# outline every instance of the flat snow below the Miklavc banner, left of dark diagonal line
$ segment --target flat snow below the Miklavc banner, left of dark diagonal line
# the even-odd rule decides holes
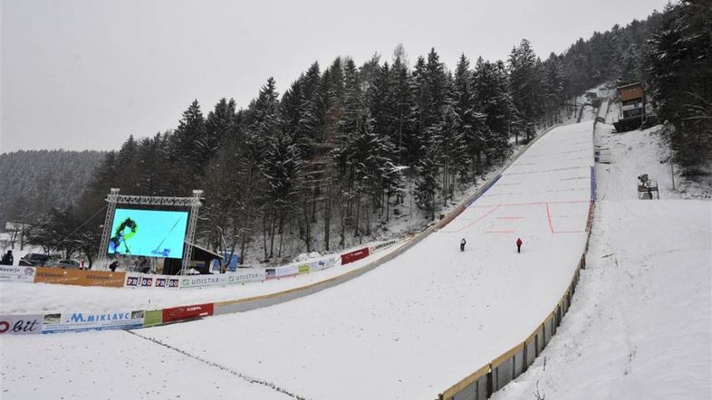
[[[0,338],[0,399],[291,398],[267,382],[251,382],[125,331],[101,333]],[[18,347],[32,348],[29,357],[15,353]]]

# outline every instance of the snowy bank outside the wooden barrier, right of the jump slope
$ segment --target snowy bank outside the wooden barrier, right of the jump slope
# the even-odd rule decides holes
[[[672,190],[656,130],[598,126],[612,163],[596,167],[587,268],[557,335],[494,398],[712,398],[712,203],[680,176]],[[637,199],[643,173],[659,201]]]

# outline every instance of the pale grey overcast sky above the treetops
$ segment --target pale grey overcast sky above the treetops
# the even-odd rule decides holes
[[[667,0],[0,0],[0,153],[115,149],[175,128],[197,99],[240,108],[274,76],[280,92],[314,61],[412,62],[435,47],[505,59],[522,38],[543,58]]]

